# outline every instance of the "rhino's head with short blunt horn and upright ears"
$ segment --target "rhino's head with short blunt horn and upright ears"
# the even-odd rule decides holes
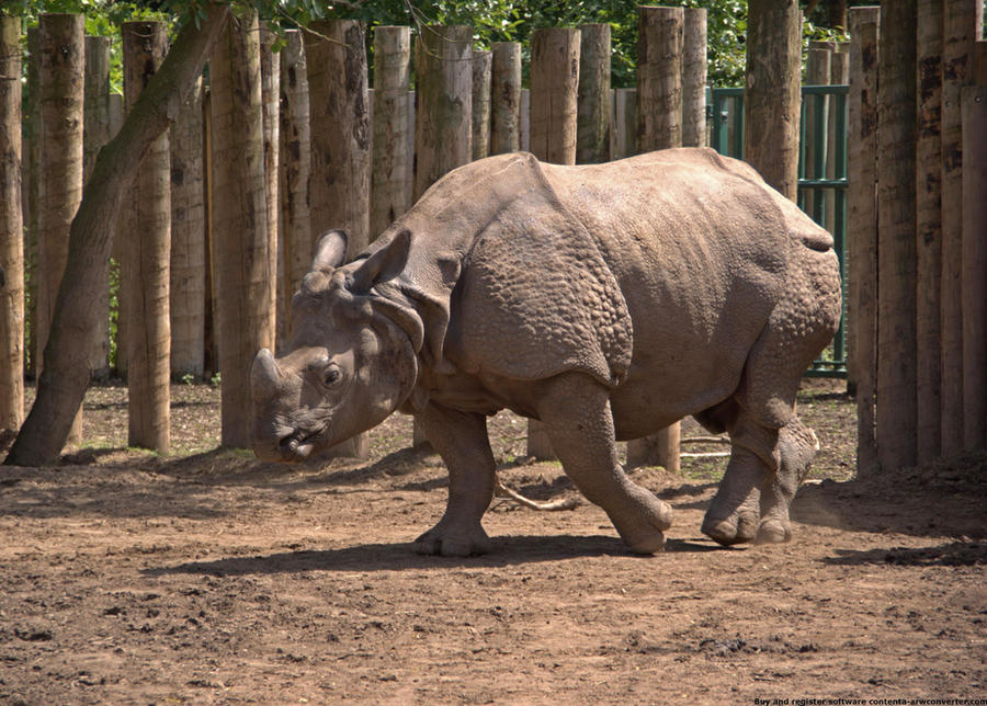
[[[291,337],[282,356],[266,349],[251,369],[253,448],[263,460],[297,462],[371,429],[410,394],[415,348],[371,288],[407,261],[410,234],[341,266],[345,234],[319,240],[311,271],[292,300]]]

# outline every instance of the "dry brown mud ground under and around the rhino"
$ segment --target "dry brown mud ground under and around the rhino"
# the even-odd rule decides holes
[[[416,556],[446,478],[407,418],[368,462],[279,467],[215,449],[208,386],[174,388],[174,454],[126,449],[125,398],[90,394],[57,467],[0,467],[0,703],[987,699],[987,456],[851,480],[836,383],[801,396],[824,448],[791,544],[705,539],[725,462],[690,460],[635,471],[677,511],[651,558],[592,505],[510,502],[494,554]],[[491,423],[501,478],[574,494],[523,429]]]

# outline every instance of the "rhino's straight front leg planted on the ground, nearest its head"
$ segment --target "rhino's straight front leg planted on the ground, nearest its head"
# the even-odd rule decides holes
[[[415,540],[415,550],[446,557],[490,551],[480,519],[494,499],[497,467],[486,418],[431,403],[416,420],[449,468],[449,503],[439,524]]]

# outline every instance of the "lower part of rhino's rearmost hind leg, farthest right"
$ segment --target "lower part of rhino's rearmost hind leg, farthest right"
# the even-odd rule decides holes
[[[761,493],[761,523],[758,544],[778,544],[792,538],[789,506],[808,475],[819,440],[797,417],[785,424],[778,439],[781,466],[774,481]]]

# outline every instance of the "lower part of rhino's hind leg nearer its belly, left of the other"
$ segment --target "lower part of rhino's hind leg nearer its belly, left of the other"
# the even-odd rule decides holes
[[[761,491],[776,475],[776,429],[751,420],[742,411],[728,426],[730,462],[703,520],[703,534],[724,546],[751,542],[761,522]]]

